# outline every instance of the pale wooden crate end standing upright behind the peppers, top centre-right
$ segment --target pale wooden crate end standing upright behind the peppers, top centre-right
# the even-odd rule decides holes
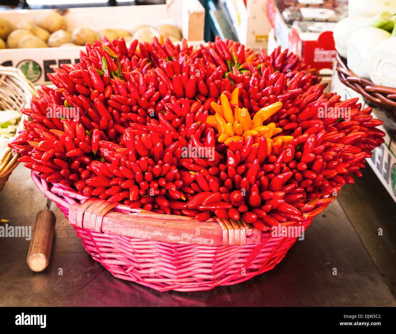
[[[227,11],[229,23],[239,42],[255,52],[259,52],[260,48],[267,49],[271,28],[266,15],[267,0],[221,0],[220,5]]]

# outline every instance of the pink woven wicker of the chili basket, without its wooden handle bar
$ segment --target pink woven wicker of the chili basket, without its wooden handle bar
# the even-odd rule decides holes
[[[36,172],[32,179],[68,218],[69,208],[87,199],[71,188],[48,184]],[[311,201],[302,226],[307,228],[334,199]],[[113,210],[127,215],[140,209],[119,204]],[[200,222],[196,223],[199,226]],[[269,231],[257,244],[197,245],[130,238],[76,225],[74,229],[86,251],[113,276],[159,291],[200,291],[243,282],[273,269],[297,240],[297,236],[272,236]]]

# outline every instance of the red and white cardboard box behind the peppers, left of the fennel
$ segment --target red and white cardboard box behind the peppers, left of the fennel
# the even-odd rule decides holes
[[[288,48],[316,69],[331,69],[336,53],[333,32],[307,33],[298,24],[289,26],[276,4],[276,0],[267,1],[267,16],[282,49]]]

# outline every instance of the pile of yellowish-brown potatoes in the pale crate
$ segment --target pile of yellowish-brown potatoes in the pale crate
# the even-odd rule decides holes
[[[103,29],[93,31],[89,28],[78,27],[67,31],[65,18],[57,12],[47,12],[37,15],[34,22],[19,21],[15,27],[6,19],[0,18],[0,49],[15,48],[54,48],[59,46],[84,46],[101,40],[101,36],[109,40],[124,37],[126,42],[138,39],[140,42],[152,42],[162,35],[172,42],[182,38],[179,28],[173,25],[160,25],[157,29],[147,25],[135,27],[132,32],[124,29]]]

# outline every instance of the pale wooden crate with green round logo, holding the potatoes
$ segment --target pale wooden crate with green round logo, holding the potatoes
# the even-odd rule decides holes
[[[34,21],[38,13],[53,10],[13,10],[0,12],[0,17],[13,25],[22,19]],[[89,27],[94,31],[120,28],[132,31],[138,25],[157,27],[172,24],[183,36],[199,44],[204,39],[205,9],[198,0],[167,0],[163,5],[70,8],[65,12],[67,30]],[[79,61],[85,47],[32,48],[0,50],[0,65],[20,68],[34,84],[48,83],[47,73],[62,63]]]

